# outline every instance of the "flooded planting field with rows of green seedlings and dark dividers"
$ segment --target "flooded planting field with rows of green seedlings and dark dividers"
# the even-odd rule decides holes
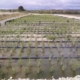
[[[0,26],[0,78],[80,74],[80,21],[29,15]]]

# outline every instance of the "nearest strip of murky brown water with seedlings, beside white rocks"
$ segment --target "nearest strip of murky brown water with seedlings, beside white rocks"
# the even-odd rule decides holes
[[[1,61],[1,69],[7,74],[7,77],[14,78],[51,78],[54,76],[67,77],[80,74],[80,65],[77,59],[27,59]],[[76,63],[77,62],[77,63]]]

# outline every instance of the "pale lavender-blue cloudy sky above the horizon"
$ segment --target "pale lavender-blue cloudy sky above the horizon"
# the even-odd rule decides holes
[[[80,9],[80,0],[1,0],[0,9]]]

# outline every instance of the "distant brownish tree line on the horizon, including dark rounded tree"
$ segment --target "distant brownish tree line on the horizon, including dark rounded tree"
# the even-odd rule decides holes
[[[80,10],[26,10],[23,6],[19,6],[18,9],[1,9],[0,11],[9,11],[9,12],[16,12],[16,11],[27,11],[29,13],[40,13],[40,14],[80,14]]]

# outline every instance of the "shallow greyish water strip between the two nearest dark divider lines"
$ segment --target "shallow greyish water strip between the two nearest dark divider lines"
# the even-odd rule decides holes
[[[39,48],[1,48],[0,49],[0,56],[4,57],[18,57],[21,55],[22,57],[57,57],[57,56],[64,56],[64,57],[77,57],[80,53],[79,48],[75,47],[39,47]]]

